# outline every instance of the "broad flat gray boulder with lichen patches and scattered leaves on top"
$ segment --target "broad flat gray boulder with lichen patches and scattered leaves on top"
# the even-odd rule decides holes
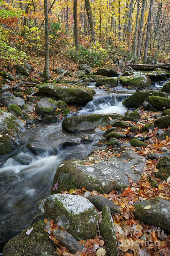
[[[90,159],[92,157],[91,160],[87,158],[87,160],[64,161],[56,170],[53,187],[58,181],[57,192],[82,187],[89,191],[96,190],[102,194],[108,193],[112,189],[120,191],[130,184],[126,172],[129,173],[133,182],[137,182],[143,173],[145,161],[138,154],[134,154],[132,149],[121,153],[120,157],[114,156],[114,153],[119,155],[123,148],[114,148],[114,150],[93,151],[88,156]],[[103,159],[100,158],[101,156]],[[130,168],[135,165],[136,167]],[[54,193],[55,191],[52,190],[52,194]]]

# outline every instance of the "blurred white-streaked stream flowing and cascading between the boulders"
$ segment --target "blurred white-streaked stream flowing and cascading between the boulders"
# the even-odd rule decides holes
[[[163,83],[154,83],[147,90],[159,91]],[[118,113],[124,115],[127,108],[122,101],[134,90],[127,90],[120,84],[115,91],[103,91],[91,83],[96,94],[76,115]],[[28,227],[34,216],[40,214],[38,202],[50,195],[53,177],[57,167],[67,159],[82,159],[91,151],[98,149],[96,145],[104,136],[95,131],[68,133],[61,128],[62,121],[54,124],[35,124],[20,135],[21,147],[10,156],[0,159],[0,221],[1,228]],[[67,140],[80,140],[82,135],[90,135],[92,143],[62,148]],[[26,148],[38,148],[36,154]]]

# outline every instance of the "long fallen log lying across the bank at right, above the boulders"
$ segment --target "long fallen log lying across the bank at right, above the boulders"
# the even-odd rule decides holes
[[[155,68],[170,69],[170,63],[158,63],[158,64],[129,64],[129,67],[134,70],[146,70],[153,71]]]

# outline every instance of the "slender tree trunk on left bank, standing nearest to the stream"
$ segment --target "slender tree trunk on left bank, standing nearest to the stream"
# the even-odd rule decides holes
[[[45,19],[45,65],[43,77],[48,81],[49,76],[49,38],[48,38],[48,0],[44,0],[44,19]]]

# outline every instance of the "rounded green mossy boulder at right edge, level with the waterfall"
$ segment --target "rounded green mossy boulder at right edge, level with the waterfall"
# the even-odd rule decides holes
[[[149,96],[148,101],[158,110],[168,109],[170,107],[170,98],[164,98],[159,96]]]

